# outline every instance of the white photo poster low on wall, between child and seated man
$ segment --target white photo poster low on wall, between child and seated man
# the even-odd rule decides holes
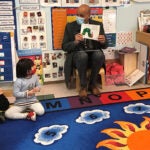
[[[44,82],[64,80],[64,61],[63,51],[42,52]]]

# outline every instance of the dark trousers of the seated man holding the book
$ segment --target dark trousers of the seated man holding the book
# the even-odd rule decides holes
[[[91,76],[89,80],[90,86],[96,86],[97,77],[100,68],[105,63],[105,56],[101,50],[85,52],[78,51],[73,56],[73,65],[78,70],[79,78],[80,78],[80,86],[82,88],[86,88],[88,85],[86,72],[87,69],[91,69]]]

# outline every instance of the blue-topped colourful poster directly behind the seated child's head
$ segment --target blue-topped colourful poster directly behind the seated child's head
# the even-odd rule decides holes
[[[42,51],[41,49],[26,49],[26,50],[17,50],[19,59],[21,58],[30,58],[35,65],[36,74],[39,77],[39,82],[43,84],[43,65],[42,65]]]

